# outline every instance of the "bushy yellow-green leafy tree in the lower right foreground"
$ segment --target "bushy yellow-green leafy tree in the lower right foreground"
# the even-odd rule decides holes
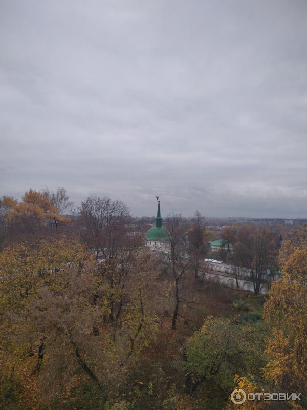
[[[210,392],[207,400],[211,405],[214,400],[226,400],[236,374],[261,374],[264,341],[261,323],[240,324],[208,317],[185,348],[186,387],[190,394],[195,395],[204,386],[205,395]],[[218,392],[215,399],[214,392]],[[218,408],[222,408],[221,402]]]

